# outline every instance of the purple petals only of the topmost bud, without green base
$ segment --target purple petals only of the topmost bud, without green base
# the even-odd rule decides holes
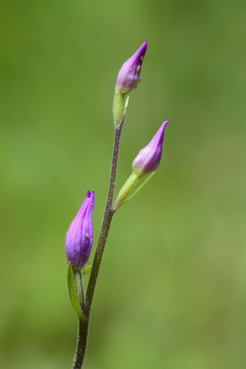
[[[116,84],[116,91],[122,94],[129,93],[138,83],[143,58],[147,49],[146,40],[142,46],[121,67]]]

